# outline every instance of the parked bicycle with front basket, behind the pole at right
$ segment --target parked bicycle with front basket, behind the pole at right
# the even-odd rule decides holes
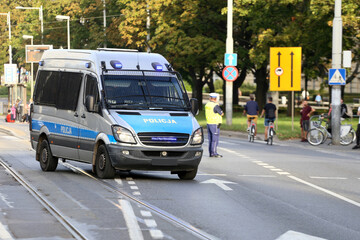
[[[317,118],[317,120],[313,120]],[[321,115],[314,115],[310,118],[310,123],[314,126],[309,130],[306,135],[308,142],[317,146],[324,143],[328,138],[331,138],[331,133],[328,129],[328,122],[325,122],[325,126],[322,125],[324,117]],[[354,141],[355,131],[351,124],[340,125],[340,144],[349,145]]]

